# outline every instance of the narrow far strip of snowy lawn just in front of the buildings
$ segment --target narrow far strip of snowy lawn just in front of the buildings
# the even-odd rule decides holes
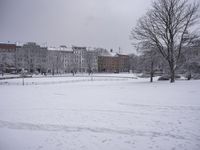
[[[58,84],[83,81],[118,81],[125,79],[136,78],[134,74],[71,74],[56,75],[56,76],[33,76],[32,78],[14,78],[0,80],[0,85],[41,85],[41,84]]]

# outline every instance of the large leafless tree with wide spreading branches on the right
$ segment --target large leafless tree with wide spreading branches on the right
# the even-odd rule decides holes
[[[168,62],[171,82],[182,47],[196,38],[191,27],[199,19],[199,4],[188,0],[157,0],[131,32],[138,48],[155,47]]]

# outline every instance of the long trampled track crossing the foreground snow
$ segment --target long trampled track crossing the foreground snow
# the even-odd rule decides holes
[[[174,135],[171,133],[161,133],[154,131],[136,131],[134,129],[110,129],[103,127],[84,127],[84,126],[66,126],[56,124],[32,124],[24,122],[9,122],[0,120],[0,128],[28,130],[28,131],[63,131],[63,132],[94,132],[106,134],[123,134],[130,136],[145,136],[145,137],[169,137],[173,139],[185,140],[185,137]]]

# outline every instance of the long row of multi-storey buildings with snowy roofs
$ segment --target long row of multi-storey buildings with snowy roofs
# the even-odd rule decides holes
[[[24,45],[0,43],[0,72],[52,73],[128,72],[127,55],[103,48],[41,47],[34,42]]]

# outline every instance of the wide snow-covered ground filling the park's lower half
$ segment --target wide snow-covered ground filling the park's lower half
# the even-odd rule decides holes
[[[0,81],[0,150],[200,149],[200,81],[25,80]]]

